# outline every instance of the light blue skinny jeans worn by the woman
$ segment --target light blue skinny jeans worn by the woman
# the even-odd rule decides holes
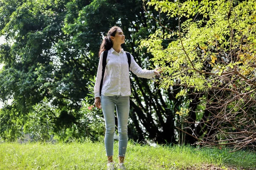
[[[105,118],[105,148],[107,156],[113,156],[115,133],[115,106],[118,120],[119,153],[125,156],[128,141],[129,96],[101,96],[102,111]]]

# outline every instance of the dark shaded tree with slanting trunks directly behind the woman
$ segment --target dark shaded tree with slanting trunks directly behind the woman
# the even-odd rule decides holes
[[[159,25],[152,22],[152,18],[145,13],[140,0],[121,0],[118,3],[110,0],[95,0],[80,11],[76,3],[70,3],[71,6],[75,7],[78,12],[74,13],[75,19],[67,21],[65,29],[69,31],[68,34],[76,38],[81,37],[82,34],[90,34],[94,39],[86,42],[90,42],[88,48],[90,51],[95,51],[93,54],[97,55],[102,41],[101,37],[106,35],[106,31],[111,26],[117,25],[123,28],[126,35],[126,43],[123,48],[130,51],[142,67],[152,67],[153,63],[148,62],[151,56],[145,56],[144,51],[135,51],[135,47],[141,37],[146,37]],[[102,13],[102,11],[105,12]],[[79,15],[76,18],[75,14],[77,13]],[[102,15],[107,16],[107,18],[102,17]],[[169,23],[166,24],[170,25]],[[77,29],[73,29],[74,26]],[[90,36],[86,37],[89,39]],[[96,67],[92,70],[96,73]],[[147,79],[132,76],[131,80],[133,95],[130,100],[132,119],[128,130],[130,138],[138,141],[143,141],[146,138],[154,139],[159,143],[175,142],[174,131],[170,126],[174,125],[174,113],[167,112],[168,102],[164,100],[161,89],[152,85],[152,82]],[[170,96],[172,97],[172,95]],[[143,105],[143,103],[145,104]]]

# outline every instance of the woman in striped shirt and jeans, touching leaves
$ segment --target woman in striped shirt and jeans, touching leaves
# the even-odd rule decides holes
[[[114,26],[108,31],[108,36],[102,40],[99,50],[99,66],[97,71],[96,83],[94,86],[95,106],[102,107],[106,133],[105,133],[105,149],[108,156],[107,167],[109,170],[114,170],[113,162],[113,136],[115,133],[115,115],[118,119],[119,133],[119,169],[124,170],[124,159],[128,141],[128,116],[130,110],[129,96],[131,95],[129,64],[128,57],[125,51],[121,48],[121,44],[125,43],[125,35],[122,29]],[[107,60],[105,65],[105,73],[102,83],[102,58],[104,51],[108,50]],[[155,74],[159,74],[157,68],[155,70],[143,70],[135,62],[131,55],[130,70],[138,77],[150,79]],[[100,94],[101,91],[101,94]]]

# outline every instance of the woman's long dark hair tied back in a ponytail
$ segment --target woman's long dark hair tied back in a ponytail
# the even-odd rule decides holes
[[[120,27],[118,26],[113,26],[112,28],[110,28],[110,30],[108,31],[108,35],[106,37],[103,38],[102,40],[102,44],[100,45],[100,48],[99,48],[99,56],[100,54],[102,53],[102,51],[105,51],[105,50],[110,50],[110,48],[113,47],[113,43],[111,41],[111,38],[110,36],[115,36],[116,35],[116,30],[117,29],[121,29]],[[121,29],[122,30],[122,29]]]

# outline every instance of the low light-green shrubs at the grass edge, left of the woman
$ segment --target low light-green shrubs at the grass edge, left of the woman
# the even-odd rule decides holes
[[[59,109],[52,105],[46,97],[41,103],[37,103],[32,108],[34,111],[26,115],[26,123],[23,132],[29,134],[29,139],[33,141],[49,141],[50,138],[61,141],[69,141],[70,138],[87,138],[92,141],[102,140],[105,133],[105,124],[102,111],[91,105],[94,97],[93,85],[95,79],[90,79],[88,85],[90,94],[81,102],[79,119],[72,124],[71,128],[64,129],[63,133],[55,130],[56,118],[59,116]],[[89,97],[90,96],[90,97]]]

